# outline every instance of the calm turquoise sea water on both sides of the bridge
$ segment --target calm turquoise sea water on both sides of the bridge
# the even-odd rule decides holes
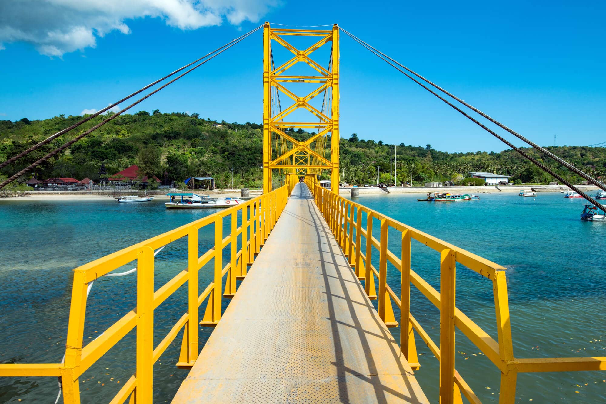
[[[461,203],[421,203],[416,198],[422,195],[413,194],[362,195],[356,201],[507,267],[516,357],[606,356],[606,224],[581,222],[583,201],[566,200],[560,193],[479,195],[479,201]],[[61,361],[75,267],[215,212],[166,210],[163,203],[162,197],[135,204],[110,198],[0,200],[0,363]],[[398,252],[399,234],[389,237],[390,249]],[[210,226],[200,235],[200,251],[212,240]],[[187,266],[186,249],[185,241],[177,241],[156,256],[156,288]],[[439,253],[413,242],[412,267],[439,289]],[[201,270],[201,287],[211,276],[210,267]],[[95,282],[85,343],[135,307],[135,281],[133,275]],[[388,284],[399,293],[399,272],[393,267]],[[156,309],[155,344],[187,310],[183,289]],[[439,342],[439,311],[415,292],[411,311]],[[496,339],[491,282],[458,267],[456,298],[458,308]],[[399,328],[391,330],[397,339]],[[201,328],[201,347],[210,331]],[[187,375],[175,367],[180,345],[179,334],[155,364],[156,402],[170,402]],[[417,347],[421,369],[416,377],[431,402],[437,402],[438,361],[420,338]],[[456,350],[456,368],[482,402],[498,402],[496,367],[461,333]],[[134,365],[132,332],[84,373],[82,401],[108,402],[134,373]],[[535,403],[604,403],[604,380],[606,372],[519,374],[517,397]],[[0,403],[52,403],[57,393],[53,377],[0,379]]]

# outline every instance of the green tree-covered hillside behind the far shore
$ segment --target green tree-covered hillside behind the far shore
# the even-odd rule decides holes
[[[0,174],[10,175],[19,171],[106,117],[90,120],[17,163],[8,165]],[[80,119],[79,116],[59,116],[45,120],[0,121],[0,161],[30,148]],[[289,134],[297,139],[309,136],[301,129]],[[151,114],[140,111],[116,117],[75,143],[70,150],[48,160],[37,169],[36,174],[38,178],[88,177],[96,181],[101,163],[105,164],[110,175],[137,164],[145,175],[162,178],[167,172],[175,181],[208,175],[216,178],[217,186],[226,187],[231,181],[233,165],[235,187],[260,187],[262,143],[262,127],[255,123],[218,123],[210,118],[201,119],[198,114],[162,114],[157,109]],[[365,184],[368,178],[371,184],[376,183],[378,168],[379,181],[389,182],[389,145],[382,141],[361,140],[353,134],[350,138],[341,139],[340,148],[342,180],[350,184]],[[547,149],[591,175],[604,177],[606,174],[606,148],[550,146]],[[574,183],[581,181],[567,169],[544,159],[534,149],[526,150],[568,180]],[[524,183],[553,181],[553,178],[511,149],[499,153],[448,153],[436,151],[431,145],[406,146],[400,143],[397,165],[398,183],[410,182],[412,177],[415,185],[445,180],[460,183],[469,171],[510,175],[512,180]],[[279,176],[275,177],[279,181]],[[324,177],[328,178],[328,175]],[[20,180],[24,182],[28,178],[30,175]]]

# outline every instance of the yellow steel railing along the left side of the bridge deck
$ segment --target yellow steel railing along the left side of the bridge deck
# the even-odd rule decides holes
[[[275,226],[296,181],[298,181],[296,176],[289,178],[285,186],[255,197],[247,203],[229,207],[76,268],[64,361],[62,363],[0,364],[0,377],[60,377],[64,402],[79,403],[79,377],[122,337],[136,328],[136,374],[122,385],[118,394],[113,398],[112,404],[122,403],[132,394],[131,402],[151,403],[153,364],[183,329],[181,354],[177,366],[189,368],[193,365],[199,353],[198,324],[214,327],[219,322],[222,298],[230,298],[236,293],[236,279],[246,275],[247,265],[253,262],[255,255]],[[238,226],[239,212],[241,212],[241,226]],[[224,236],[223,219],[226,217],[231,218],[231,233]],[[198,233],[200,229],[209,224],[214,224],[215,227],[215,247],[200,255]],[[154,250],[184,237],[187,237],[188,240],[187,268],[158,290],[154,290]],[[238,237],[240,237],[242,248],[236,251]],[[230,261],[223,266],[223,250],[227,246],[230,246],[231,249]],[[214,279],[200,294],[198,273],[211,259],[214,259]],[[135,260],[137,261],[136,308],[122,316],[101,336],[84,345],[88,285],[95,279]],[[227,274],[227,279],[225,279],[223,292],[222,282],[225,274]],[[188,284],[188,310],[182,314],[164,339],[154,347],[154,310],[185,282]],[[207,305],[204,316],[202,321],[199,321],[198,310],[205,300]]]

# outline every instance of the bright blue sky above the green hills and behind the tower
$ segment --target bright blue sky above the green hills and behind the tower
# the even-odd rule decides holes
[[[541,145],[553,145],[554,134],[558,145],[606,141],[604,2],[233,0],[230,8],[213,8],[217,2],[213,0],[204,2],[198,19],[179,14],[183,10],[149,13],[135,8],[99,19],[96,9],[86,9],[88,0],[50,2],[79,4],[71,20],[82,18],[96,30],[93,37],[82,34],[70,37],[71,42],[49,45],[48,33],[39,24],[36,30],[28,28],[37,18],[48,18],[36,17],[33,7],[27,13],[18,10],[17,4],[24,3],[16,0],[0,5],[0,15],[2,11],[8,15],[7,9],[24,13],[19,27],[11,27],[19,16],[0,18],[0,48],[4,47],[0,50],[0,119],[45,119],[104,108],[263,21],[338,23]],[[49,12],[45,11],[46,16]],[[2,37],[2,28],[7,26],[30,31]],[[87,46],[87,41],[93,41],[94,47]],[[68,51],[56,56],[62,53],[61,46]],[[145,100],[133,112],[156,108],[260,123],[261,31]],[[341,135],[349,137],[353,132],[386,143],[430,143],[449,152],[506,148],[342,34]]]

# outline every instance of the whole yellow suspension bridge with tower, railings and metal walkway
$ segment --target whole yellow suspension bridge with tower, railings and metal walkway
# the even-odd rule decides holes
[[[260,28],[264,193],[76,268],[64,358],[0,364],[0,376],[59,377],[65,403],[87,402],[82,374],[133,330],[136,372],[111,403],[153,402],[154,385],[165,382],[154,377],[153,367],[173,342],[181,344],[177,366],[190,370],[174,403],[426,403],[416,380],[422,374],[417,344],[426,344],[439,360],[441,403],[480,403],[465,381],[474,375],[456,370],[455,335],[461,333],[501,372],[500,385],[494,386],[499,403],[516,401],[519,373],[606,370],[606,357],[515,357],[504,267],[339,196],[340,28],[291,30],[268,23]],[[290,36],[315,42],[299,50],[287,41]],[[294,56],[276,67],[272,44]],[[313,59],[324,45],[331,47],[326,67]],[[298,63],[316,74],[286,74]],[[287,83],[319,87],[299,96]],[[292,105],[282,109],[279,94]],[[311,99],[320,94],[324,101],[316,108]],[[297,109],[319,122],[288,122]],[[318,132],[297,140],[287,128]],[[318,183],[325,170],[331,172],[331,189]],[[284,184],[273,189],[272,175],[285,178]],[[199,235],[208,231],[214,246],[201,251]],[[388,240],[394,238],[398,249],[390,250]],[[156,288],[155,251],[182,239],[187,267]],[[413,243],[439,253],[439,291],[411,269]],[[137,268],[136,307],[85,343],[90,285],[129,262]],[[210,263],[213,282],[200,288],[200,271]],[[398,272],[399,284],[387,284],[388,269]],[[490,282],[496,338],[457,307],[457,271],[473,271]],[[187,288],[187,310],[155,344],[155,310],[180,288]],[[439,340],[411,314],[412,288],[438,308]],[[225,299],[231,301],[222,310]],[[201,351],[200,327],[214,328]],[[399,340],[390,333],[393,327],[401,328]]]

